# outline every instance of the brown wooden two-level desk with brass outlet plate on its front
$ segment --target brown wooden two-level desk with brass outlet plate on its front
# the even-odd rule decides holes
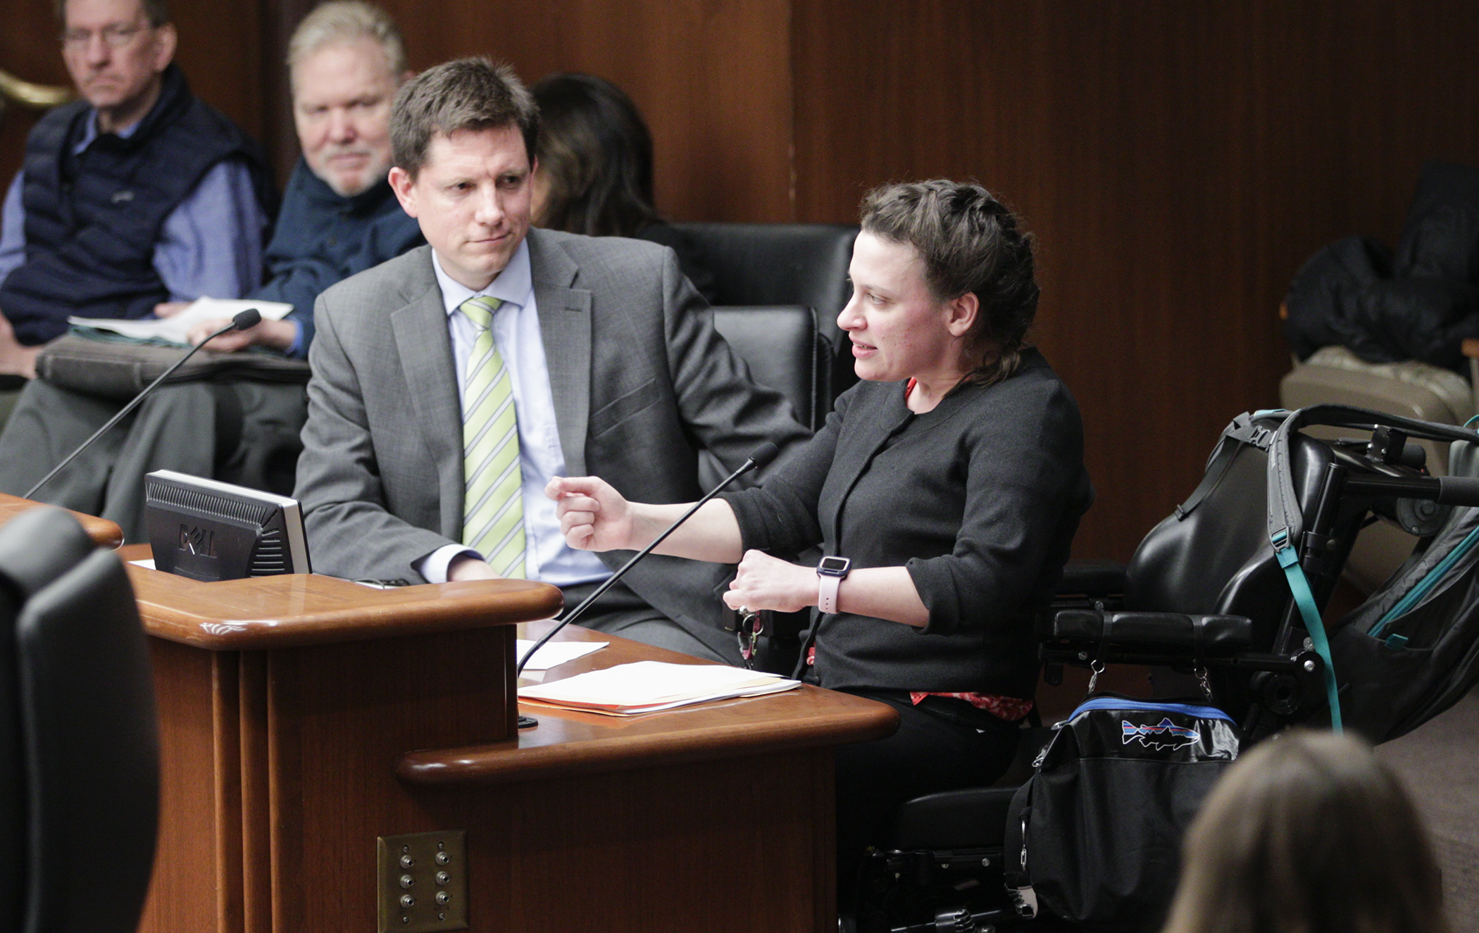
[[[164,756],[143,930],[376,930],[376,837],[439,829],[467,832],[472,930],[836,929],[831,747],[892,732],[880,704],[541,708],[516,735],[507,622],[552,587],[130,577]],[[565,637],[611,646],[550,677],[694,661]]]

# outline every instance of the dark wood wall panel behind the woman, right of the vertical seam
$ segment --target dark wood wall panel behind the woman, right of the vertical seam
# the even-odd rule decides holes
[[[1455,1],[797,3],[797,219],[929,176],[1026,216],[1099,491],[1077,552],[1124,557],[1278,401],[1299,265],[1395,238],[1426,158],[1479,163],[1476,41]]]

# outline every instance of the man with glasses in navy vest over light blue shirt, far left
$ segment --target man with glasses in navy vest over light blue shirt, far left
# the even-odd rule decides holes
[[[30,376],[68,315],[142,318],[262,275],[271,186],[256,145],[172,64],[163,0],[62,0],[80,101],[27,139],[0,222],[0,370]]]

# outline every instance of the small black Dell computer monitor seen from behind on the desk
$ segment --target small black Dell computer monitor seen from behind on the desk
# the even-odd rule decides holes
[[[308,574],[296,498],[175,470],[143,478],[154,568],[191,580]]]

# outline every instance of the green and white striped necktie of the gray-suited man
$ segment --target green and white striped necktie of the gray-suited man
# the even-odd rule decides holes
[[[493,343],[498,299],[475,296],[460,311],[478,328],[463,390],[463,544],[500,577],[524,574],[524,473],[513,381]]]

